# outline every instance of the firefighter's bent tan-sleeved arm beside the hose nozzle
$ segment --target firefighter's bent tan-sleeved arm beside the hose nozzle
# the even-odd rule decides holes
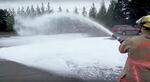
[[[120,53],[127,53],[129,49],[130,49],[130,41],[129,39],[126,39],[120,44],[119,51]]]

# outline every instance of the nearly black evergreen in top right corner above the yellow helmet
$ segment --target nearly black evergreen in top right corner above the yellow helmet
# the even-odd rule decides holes
[[[149,0],[131,0],[127,8],[129,10],[126,13],[128,13],[131,24],[135,24],[140,17],[150,14]]]

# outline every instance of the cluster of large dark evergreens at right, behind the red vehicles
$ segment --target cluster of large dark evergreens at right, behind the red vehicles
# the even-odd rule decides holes
[[[150,15],[148,0],[112,0],[108,10],[104,2],[95,17],[99,23],[111,29],[114,25],[136,25],[142,16]]]

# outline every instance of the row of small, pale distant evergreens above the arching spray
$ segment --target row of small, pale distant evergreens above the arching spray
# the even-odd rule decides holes
[[[15,9],[8,9],[8,12],[11,15],[20,15],[20,16],[30,16],[30,17],[35,17],[35,16],[40,16],[43,14],[52,14],[52,13],[60,13],[60,12],[66,12],[66,13],[70,13],[71,11],[69,11],[69,9],[63,9],[61,6],[58,7],[57,10],[54,10],[53,8],[51,8],[50,3],[48,2],[46,7],[44,6],[43,3],[41,3],[41,5],[37,5],[36,7],[34,7],[33,5],[31,6],[27,6],[27,7],[19,7],[17,9],[17,11],[15,11]],[[77,7],[74,8],[73,10],[74,14],[79,14],[79,10]],[[82,15],[83,16],[87,16],[87,10],[86,8],[83,6],[82,8]]]

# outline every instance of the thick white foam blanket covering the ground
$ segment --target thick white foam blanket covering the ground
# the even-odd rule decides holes
[[[1,38],[0,44],[11,46],[0,48],[0,58],[82,79],[115,79],[126,61],[109,37],[22,36]]]

